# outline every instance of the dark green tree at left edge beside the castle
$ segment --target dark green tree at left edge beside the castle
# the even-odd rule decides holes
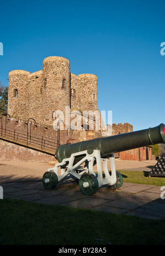
[[[0,81],[0,114],[7,114],[8,109],[8,87],[3,86]]]

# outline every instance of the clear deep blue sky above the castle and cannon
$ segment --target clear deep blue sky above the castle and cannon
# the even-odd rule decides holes
[[[98,77],[98,108],[134,130],[165,123],[165,2],[160,0],[3,1],[0,80],[35,72],[62,56],[75,75]]]

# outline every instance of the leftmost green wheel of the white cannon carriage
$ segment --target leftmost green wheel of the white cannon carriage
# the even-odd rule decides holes
[[[43,174],[42,183],[46,189],[54,189],[58,183],[57,174],[54,173],[54,171],[46,171],[46,173]]]

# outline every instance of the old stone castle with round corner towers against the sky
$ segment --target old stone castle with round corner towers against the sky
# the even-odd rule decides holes
[[[52,125],[54,111],[62,111],[65,120],[66,106],[81,113],[96,111],[97,83],[96,75],[74,75],[68,59],[50,56],[43,60],[40,71],[9,72],[8,113],[11,117],[34,118],[37,123]]]

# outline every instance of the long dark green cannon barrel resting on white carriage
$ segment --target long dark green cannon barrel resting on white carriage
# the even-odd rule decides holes
[[[106,158],[108,155],[120,151],[159,143],[165,143],[165,125],[163,123],[157,127],[138,130],[136,132],[122,133],[110,137],[102,137],[74,144],[61,145],[57,148],[55,158],[59,163],[61,163],[63,159],[69,158],[73,153],[87,150],[88,153],[91,154],[94,149],[100,150],[101,157]],[[81,158],[83,158],[83,156]]]

